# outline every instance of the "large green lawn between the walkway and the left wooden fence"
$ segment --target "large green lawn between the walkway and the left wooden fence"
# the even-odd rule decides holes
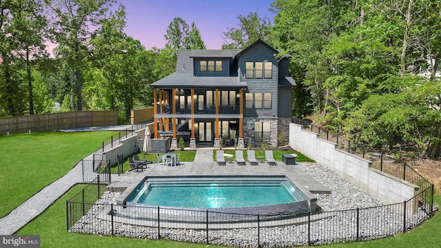
[[[0,217],[69,172],[114,132],[0,136]]]

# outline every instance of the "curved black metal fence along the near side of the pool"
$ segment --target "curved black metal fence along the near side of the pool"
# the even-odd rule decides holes
[[[66,201],[68,231],[234,247],[291,247],[395,236],[433,213],[433,204],[422,200],[433,198],[433,185],[403,203],[300,215],[114,205],[106,196],[99,199],[102,194],[100,185],[88,185]]]

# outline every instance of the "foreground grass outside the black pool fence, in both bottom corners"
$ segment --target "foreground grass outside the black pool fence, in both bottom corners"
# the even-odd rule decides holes
[[[92,185],[96,187],[96,185]],[[28,225],[17,231],[17,235],[35,235],[41,237],[41,247],[183,247],[202,248],[206,245],[172,242],[166,240],[144,240],[139,238],[121,238],[116,236],[98,236],[74,234],[66,231],[66,206],[65,201],[81,191],[83,185],[76,185],[53,205],[46,209],[40,216]],[[435,203],[441,204],[441,196],[435,197]],[[368,242],[347,244],[332,244],[322,247],[350,247],[350,248],[376,248],[376,247],[439,247],[441,244],[441,215],[436,214],[426,223],[408,231],[406,234]],[[209,245],[209,247],[216,247]]]

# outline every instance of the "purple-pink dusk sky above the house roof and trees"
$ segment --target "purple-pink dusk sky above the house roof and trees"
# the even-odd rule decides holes
[[[188,25],[196,23],[207,49],[220,49],[227,28],[237,28],[239,15],[257,12],[259,17],[274,13],[268,9],[275,0],[119,0],[125,6],[125,33],[141,41],[147,50],[164,48],[164,34],[174,17]]]

